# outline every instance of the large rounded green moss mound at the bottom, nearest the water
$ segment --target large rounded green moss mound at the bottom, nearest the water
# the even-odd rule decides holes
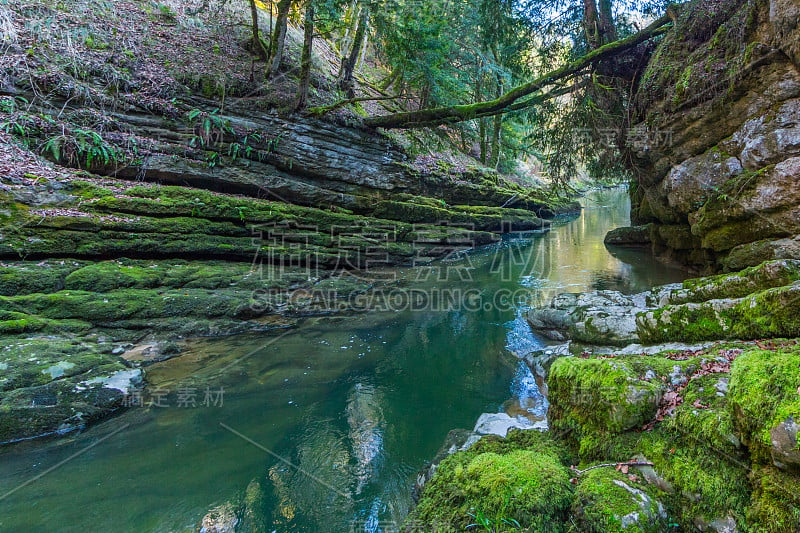
[[[526,444],[482,441],[442,461],[412,523],[420,521],[432,531],[463,531],[475,521],[472,514],[498,525],[502,519],[516,520],[527,531],[564,530],[572,486],[557,445],[541,434]]]

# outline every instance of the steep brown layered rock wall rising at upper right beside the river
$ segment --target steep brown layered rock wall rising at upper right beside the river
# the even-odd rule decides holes
[[[703,270],[800,257],[800,7],[682,7],[634,100],[639,240]]]

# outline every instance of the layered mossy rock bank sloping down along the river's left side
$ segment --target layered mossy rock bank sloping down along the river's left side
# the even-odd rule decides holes
[[[382,269],[579,209],[427,133],[288,112],[244,10],[74,7],[0,8],[0,444],[120,412],[187,338],[348,311]]]

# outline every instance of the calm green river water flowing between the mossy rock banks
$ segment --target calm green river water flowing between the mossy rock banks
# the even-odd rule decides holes
[[[449,430],[472,428],[514,397],[528,400],[532,416],[543,411],[512,354],[543,344],[521,318],[525,305],[685,277],[643,252],[615,258],[605,249],[605,232],[628,224],[623,191],[584,204],[581,217],[548,233],[399,272],[400,286],[425,294],[475,291],[477,306],[314,318],[287,332],[201,340],[148,369],[169,391],[166,407],[0,450],[0,531],[194,531],[254,479],[267,531],[393,531]],[[485,305],[498,294],[513,295],[513,305]],[[207,388],[222,392],[203,405]]]

